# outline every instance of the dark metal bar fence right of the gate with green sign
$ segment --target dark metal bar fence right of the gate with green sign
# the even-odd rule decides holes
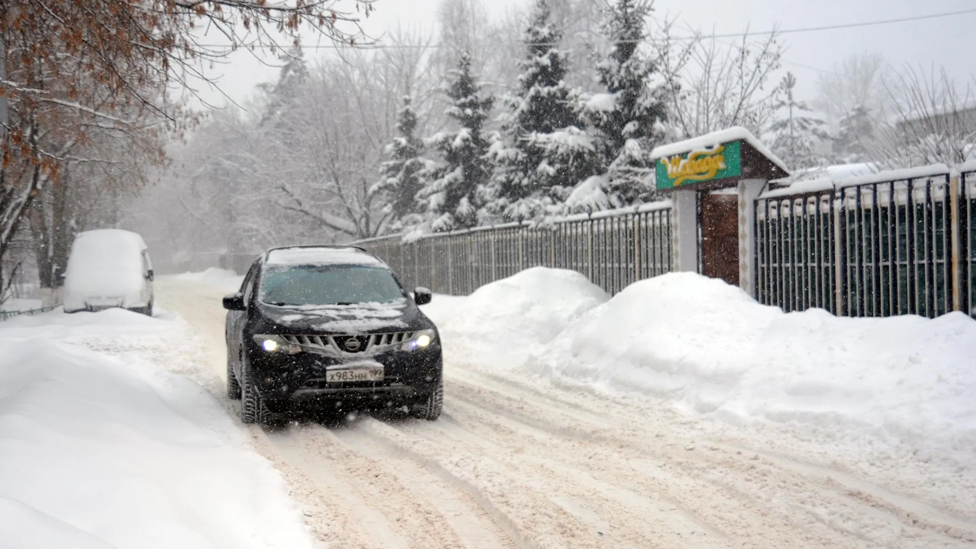
[[[756,299],[788,312],[819,307],[847,317],[953,311],[958,190],[948,169],[899,175],[756,199]],[[964,210],[955,221],[971,250],[976,194],[961,187]],[[967,283],[960,309],[968,313],[974,260],[968,251],[962,257]]]

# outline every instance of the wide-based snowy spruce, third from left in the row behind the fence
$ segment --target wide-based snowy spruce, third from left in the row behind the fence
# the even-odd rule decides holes
[[[562,202],[599,164],[575,105],[581,95],[566,82],[562,32],[550,21],[548,0],[536,0],[523,43],[519,88],[507,98],[511,111],[502,139],[492,145],[495,164],[486,217],[521,221]]]

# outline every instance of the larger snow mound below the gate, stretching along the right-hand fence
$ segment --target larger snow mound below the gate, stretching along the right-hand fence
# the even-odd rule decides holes
[[[641,280],[529,367],[698,412],[945,437],[976,450],[976,322],[784,314],[698,274]]]

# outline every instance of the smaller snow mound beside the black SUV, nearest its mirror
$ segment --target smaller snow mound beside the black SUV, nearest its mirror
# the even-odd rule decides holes
[[[583,274],[536,267],[468,297],[435,296],[422,309],[440,330],[446,361],[514,367],[607,299]]]

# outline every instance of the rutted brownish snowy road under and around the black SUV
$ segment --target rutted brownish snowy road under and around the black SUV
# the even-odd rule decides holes
[[[222,293],[175,278],[156,291],[159,305],[199,336],[187,345],[204,347],[196,352],[213,375],[198,381],[235,411],[223,389]],[[719,428],[647,401],[465,364],[445,369],[437,422],[360,415],[277,432],[249,427],[318,539],[336,549],[972,547],[976,540],[973,486],[931,475],[926,468],[938,464],[895,455],[852,463],[842,448],[791,438],[786,428]]]

